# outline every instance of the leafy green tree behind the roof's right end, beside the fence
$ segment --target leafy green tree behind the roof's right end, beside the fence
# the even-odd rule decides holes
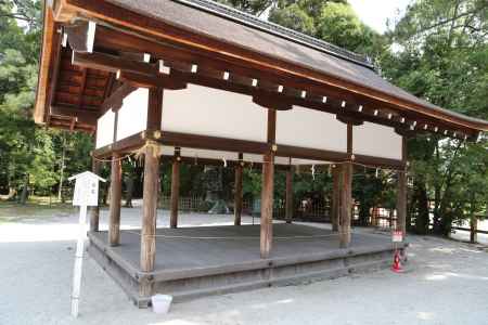
[[[488,117],[488,3],[478,0],[415,1],[388,35],[400,51],[382,58],[385,77],[439,106]],[[483,211],[487,184],[486,141],[464,143],[441,136],[409,142],[413,194],[410,211],[415,230],[429,229],[433,198],[434,232],[447,235],[453,221]],[[477,168],[470,164],[474,161]],[[473,203],[466,204],[466,203]]]

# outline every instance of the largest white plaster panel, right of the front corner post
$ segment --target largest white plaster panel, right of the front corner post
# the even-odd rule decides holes
[[[163,132],[266,142],[267,110],[251,96],[189,84],[166,90],[163,96]]]

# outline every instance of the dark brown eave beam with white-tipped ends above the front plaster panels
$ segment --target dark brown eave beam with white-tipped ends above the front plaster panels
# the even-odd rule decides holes
[[[100,28],[103,30],[103,28]],[[100,37],[100,36],[99,36]],[[226,68],[220,67],[217,70],[213,66],[197,66],[196,72],[192,72],[194,65],[191,61],[181,62],[176,61],[175,55],[171,60],[164,60],[164,65],[169,68],[168,75],[160,74],[158,67],[154,64],[144,63],[141,61],[132,61],[125,57],[118,57],[111,54],[95,52],[92,54],[74,54],[74,63],[85,67],[104,69],[106,72],[120,72],[125,81],[131,82],[133,86],[145,87],[160,87],[167,86],[168,89],[184,88],[185,82],[200,84],[209,88],[227,90],[231,92],[248,94],[253,96],[253,101],[264,107],[274,105],[277,109],[291,109],[293,105],[319,109],[332,114],[337,114],[338,119],[344,122],[354,122],[360,125],[363,121],[371,121],[375,123],[386,125],[396,129],[409,130],[412,125],[429,126],[427,129],[416,128],[415,132],[434,131],[434,126],[437,125],[437,132],[444,130],[451,130],[452,126],[445,125],[435,120],[426,120],[419,116],[413,116],[412,113],[400,115],[391,108],[375,108],[370,102],[364,105],[355,104],[357,101],[346,101],[339,95],[330,95],[330,91],[321,88],[321,91],[313,90],[304,91],[294,88],[295,83],[287,84],[284,82],[274,82],[267,79],[255,79],[248,76],[249,72],[242,70],[242,74],[228,73],[226,80]],[[166,57],[165,57],[166,58]],[[187,57],[185,60],[190,60]],[[215,63],[214,63],[215,64]],[[230,70],[231,68],[229,68]],[[171,80],[171,81],[170,81]],[[257,82],[253,86],[253,82]],[[280,92],[280,87],[282,92]],[[305,94],[305,95],[304,95]],[[393,113],[395,112],[395,113]],[[467,134],[467,129],[455,129],[459,134]],[[452,135],[452,132],[451,132]]]

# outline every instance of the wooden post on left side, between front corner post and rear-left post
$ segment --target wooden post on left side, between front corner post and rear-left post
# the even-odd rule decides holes
[[[121,161],[119,154],[112,155],[111,204],[108,217],[108,243],[120,244]]]

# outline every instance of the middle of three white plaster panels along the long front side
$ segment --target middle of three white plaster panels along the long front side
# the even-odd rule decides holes
[[[347,126],[335,115],[294,106],[277,113],[277,143],[347,152]]]

